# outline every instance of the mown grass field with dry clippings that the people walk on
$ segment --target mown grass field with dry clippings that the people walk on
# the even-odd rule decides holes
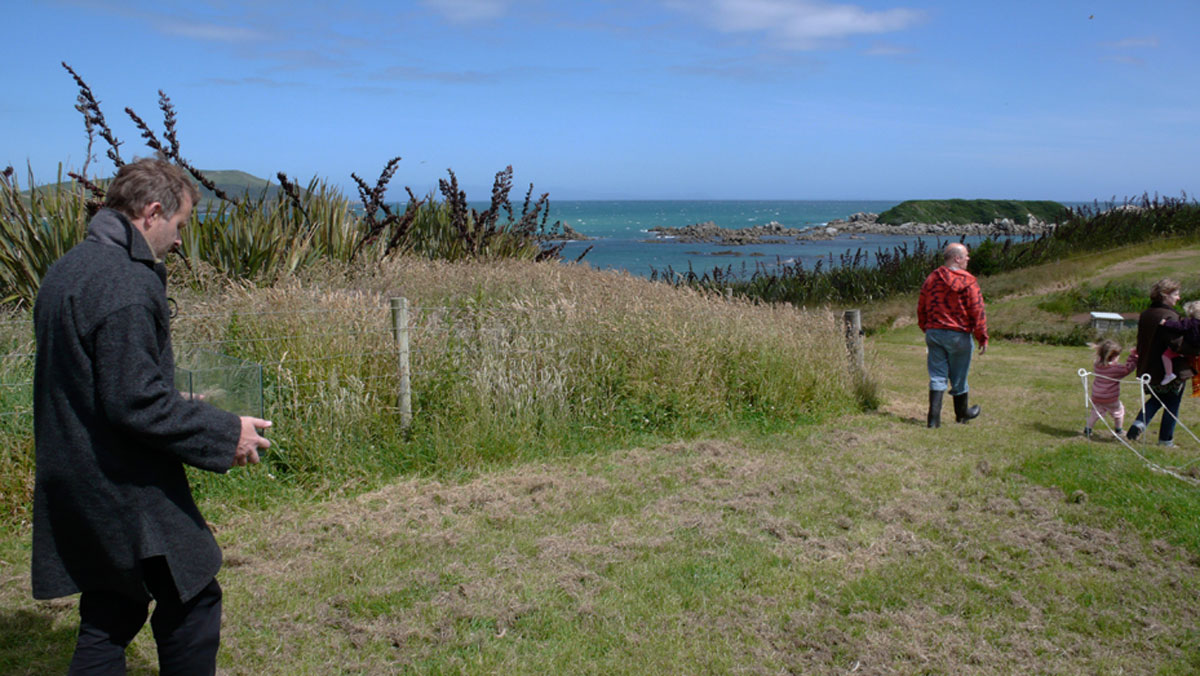
[[[1115,263],[1158,274],[1194,255]],[[1111,263],[985,292],[1003,323]],[[868,339],[875,412],[264,509],[210,496],[222,671],[1200,670],[1200,489],[1079,435],[1091,352],[996,341],[972,370],[983,415],[926,430],[920,333],[894,313]],[[1136,408],[1133,388],[1123,399]],[[1187,399],[1184,423],[1198,413]],[[1176,438],[1139,449],[1193,462],[1200,442]],[[30,600],[28,556],[28,533],[0,538],[0,671],[61,672],[74,600]],[[149,630],[131,665],[154,672]]]

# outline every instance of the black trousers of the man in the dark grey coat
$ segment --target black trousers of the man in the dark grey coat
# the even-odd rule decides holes
[[[179,600],[164,558],[145,562],[145,585],[154,597],[150,617],[162,676],[212,676],[221,644],[221,585],[216,579],[187,603]],[[71,675],[124,675],[125,648],[146,622],[150,603],[114,592],[79,597],[79,639]]]

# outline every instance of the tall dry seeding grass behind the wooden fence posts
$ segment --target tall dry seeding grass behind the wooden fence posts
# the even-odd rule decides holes
[[[264,366],[275,423],[264,463],[233,478],[193,477],[203,493],[234,503],[744,425],[780,429],[862,406],[832,312],[728,301],[581,265],[401,257],[356,271],[316,265],[271,287],[210,282],[173,294],[178,352],[214,349]],[[396,407],[392,297],[412,307],[408,430]],[[0,439],[5,475],[17,478],[5,497],[14,514],[28,502],[28,437],[26,418]]]

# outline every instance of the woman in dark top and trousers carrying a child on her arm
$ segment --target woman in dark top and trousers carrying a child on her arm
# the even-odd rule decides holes
[[[1138,377],[1150,375],[1150,399],[1126,432],[1129,441],[1140,437],[1162,408],[1164,413],[1158,427],[1158,443],[1175,445],[1175,423],[1180,414],[1180,402],[1183,401],[1183,387],[1194,375],[1190,367],[1176,369],[1176,377],[1163,383],[1166,373],[1163,353],[1170,346],[1172,335],[1162,324],[1164,321],[1178,321],[1180,316],[1175,311],[1178,301],[1180,282],[1162,279],[1150,289],[1150,307],[1138,317]]]

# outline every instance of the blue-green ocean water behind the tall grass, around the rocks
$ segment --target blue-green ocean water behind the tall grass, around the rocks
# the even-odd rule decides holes
[[[760,267],[770,269],[781,263],[804,263],[811,268],[817,259],[846,251],[890,250],[912,244],[917,238],[894,235],[839,235],[832,240],[790,244],[726,246],[720,244],[682,244],[658,239],[653,227],[683,227],[713,221],[725,228],[764,226],[772,221],[787,228],[821,227],[834,219],[846,219],[858,211],[881,213],[899,201],[551,201],[550,222],[562,221],[590,241],[572,241],[563,250],[565,261],[575,261],[588,247],[582,262],[594,268],[628,270],[649,276],[653,270],[672,269],[697,274],[714,268],[751,274]],[[924,238],[930,246],[936,238]],[[874,257],[871,258],[874,261]]]

